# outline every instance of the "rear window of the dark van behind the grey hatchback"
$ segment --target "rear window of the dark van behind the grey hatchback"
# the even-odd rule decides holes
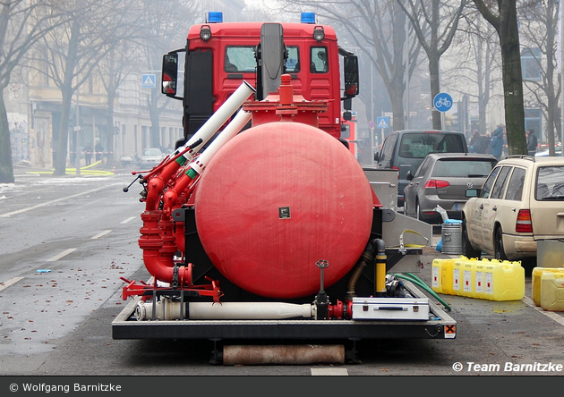
[[[464,143],[457,134],[422,132],[405,134],[399,144],[399,156],[425,158],[430,153],[464,153]]]

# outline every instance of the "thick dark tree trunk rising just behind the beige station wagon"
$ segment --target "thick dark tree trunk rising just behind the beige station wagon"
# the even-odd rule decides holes
[[[503,69],[503,93],[509,155],[526,155],[523,74],[517,25],[517,0],[485,4],[474,0],[478,11],[498,32]]]

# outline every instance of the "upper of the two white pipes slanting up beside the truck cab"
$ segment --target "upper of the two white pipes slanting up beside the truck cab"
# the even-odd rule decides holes
[[[201,147],[204,146],[211,137],[213,137],[219,128],[221,128],[221,126],[229,120],[229,117],[231,117],[235,111],[243,105],[244,101],[247,100],[253,92],[255,92],[255,89],[252,88],[251,84],[243,80],[243,83],[241,83],[239,88],[235,89],[235,92],[227,98],[223,105],[219,106],[218,110],[214,114],[211,114],[208,121],[204,122],[200,129],[192,135],[192,138],[188,139],[188,141],[184,143],[184,146],[175,150],[173,156],[176,156],[185,148],[191,146],[196,140],[201,139],[201,144],[199,144],[196,148],[188,150],[183,155],[187,161],[192,161],[193,154],[198,153],[198,150],[200,150]]]

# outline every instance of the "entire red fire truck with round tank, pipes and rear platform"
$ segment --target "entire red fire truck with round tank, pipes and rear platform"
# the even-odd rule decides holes
[[[217,17],[190,30],[184,82],[181,50],[164,56],[162,90],[184,101],[184,138],[137,173],[151,279],[122,278],[133,300],[114,339],[208,339],[214,363],[215,342],[229,340],[352,341],[356,361],[360,339],[454,339],[456,321],[418,281],[387,275],[422,249],[386,246],[397,216],[338,142],[340,101],[352,120],[358,93],[355,55],[310,20]]]

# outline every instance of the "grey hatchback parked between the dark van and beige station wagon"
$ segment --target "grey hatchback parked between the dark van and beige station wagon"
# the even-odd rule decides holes
[[[433,153],[413,174],[404,190],[404,214],[429,223],[440,223],[440,206],[449,218],[460,219],[466,204],[466,189],[481,188],[498,160],[476,153]]]

